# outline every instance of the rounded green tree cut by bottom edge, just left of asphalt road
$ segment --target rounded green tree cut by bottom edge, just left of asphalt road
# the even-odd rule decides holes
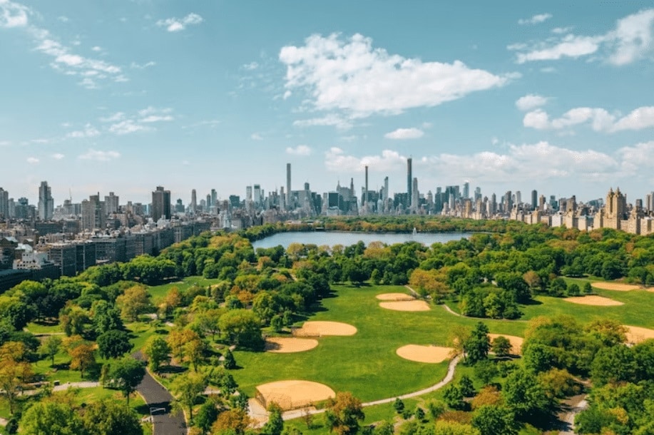
[[[143,435],[136,412],[128,404],[111,399],[88,404],[83,411],[82,424],[89,434]]]

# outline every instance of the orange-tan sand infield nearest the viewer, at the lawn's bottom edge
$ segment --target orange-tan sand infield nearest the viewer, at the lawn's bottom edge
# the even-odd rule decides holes
[[[336,396],[325,384],[310,381],[277,381],[257,386],[257,400],[267,408],[274,401],[282,409],[297,409]]]

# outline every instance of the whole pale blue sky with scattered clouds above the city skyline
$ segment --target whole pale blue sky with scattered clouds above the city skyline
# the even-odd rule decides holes
[[[654,190],[649,1],[0,0],[0,187]]]

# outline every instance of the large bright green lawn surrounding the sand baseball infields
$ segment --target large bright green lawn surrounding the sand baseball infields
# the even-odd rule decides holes
[[[317,348],[294,354],[235,352],[233,371],[249,395],[258,384],[282,379],[306,379],[327,384],[334,391],[352,391],[369,401],[409,393],[439,382],[447,362],[424,364],[395,354],[404,344],[445,346],[451,327],[472,327],[478,319],[456,317],[444,307],[431,305],[429,312],[397,312],[379,307],[375,295],[407,292],[404,287],[334,287],[338,297],[323,301],[323,311],[311,320],[333,320],[357,327],[351,337],[321,337]],[[491,332],[522,335],[526,324],[488,320]]]

